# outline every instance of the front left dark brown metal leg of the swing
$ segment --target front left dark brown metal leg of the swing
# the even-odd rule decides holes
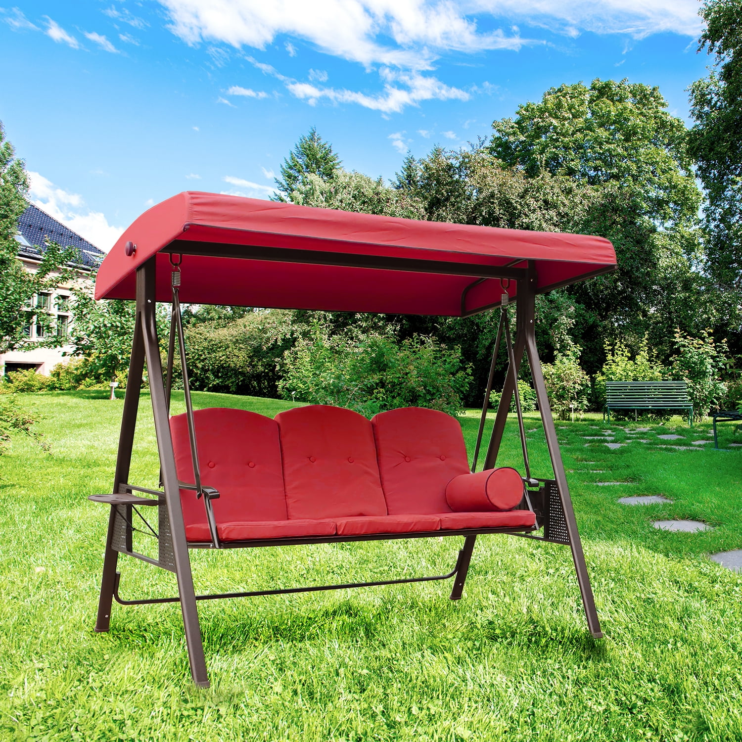
[[[155,315],[155,258],[151,257],[137,269],[137,302],[142,297],[142,332],[149,374],[149,388],[152,396],[154,428],[157,433],[157,449],[160,451],[160,470],[165,502],[168,506],[170,531],[173,542],[175,574],[180,595],[180,609],[183,613],[185,642],[188,645],[188,660],[191,663],[191,676],[197,686],[209,687],[206,673],[206,660],[203,656],[203,641],[198,622],[196,594],[191,574],[191,560],[188,557],[188,542],[185,540],[183,510],[180,507],[180,487],[175,470],[173,441],[168,418],[168,401],[162,380],[162,361],[157,342],[157,321]]]

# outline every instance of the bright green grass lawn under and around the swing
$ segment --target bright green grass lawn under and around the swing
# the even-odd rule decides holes
[[[679,418],[666,427],[557,423],[605,638],[592,640],[568,548],[481,536],[458,603],[449,583],[200,603],[212,687],[191,685],[177,605],[114,604],[94,634],[121,401],[23,395],[50,444],[0,457],[0,739],[742,739],[742,575],[706,558],[742,548],[742,449]],[[274,415],[286,402],[194,394],[197,407]],[[131,482],[154,485],[148,398]],[[182,394],[174,411],[183,411]],[[470,450],[478,420],[462,418]],[[491,424],[491,421],[490,421]],[[631,434],[636,427],[649,431]],[[542,429],[526,424],[548,476]],[[625,445],[611,450],[611,441]],[[674,433],[683,439],[666,441]],[[514,421],[499,463],[519,465]],[[643,442],[646,441],[646,442]],[[695,450],[700,448],[701,450]],[[710,449],[710,450],[709,450]],[[522,466],[520,466],[522,469]],[[598,482],[620,482],[617,485]],[[626,507],[663,494],[671,505]],[[654,519],[693,518],[706,533]],[[440,574],[461,539],[191,552],[197,591]],[[174,576],[122,557],[122,594],[174,594]]]

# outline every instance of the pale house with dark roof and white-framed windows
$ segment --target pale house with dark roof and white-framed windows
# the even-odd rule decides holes
[[[69,227],[50,217],[38,206],[30,203],[19,219],[18,234],[16,234],[16,240],[19,243],[18,259],[28,271],[35,271],[36,266],[39,265],[45,250],[45,238],[64,247],[70,245],[75,247],[80,256],[79,263],[75,266],[79,278],[82,281],[92,280],[105,253]],[[73,321],[70,312],[70,294],[70,286],[59,286],[53,291],[40,293],[33,297],[31,306],[28,307],[28,324],[24,329],[32,347],[0,355],[1,373],[35,369],[40,373],[48,374],[56,364],[65,360],[65,356],[62,355],[65,347],[33,347],[33,341],[40,340],[45,332],[50,332],[42,324],[36,323],[33,310],[43,309],[45,314],[51,312],[56,318],[54,324],[57,334],[66,335]]]

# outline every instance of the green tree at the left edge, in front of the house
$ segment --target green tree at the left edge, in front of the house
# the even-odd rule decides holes
[[[15,235],[19,217],[28,206],[27,192],[24,162],[16,157],[0,122],[0,353],[27,344],[24,326],[30,321],[30,315],[36,315],[38,324],[51,324],[50,312],[41,308],[28,311],[33,295],[72,278],[69,264],[78,257],[72,247],[47,242],[36,270],[24,269],[18,260]],[[45,344],[57,342],[53,335],[45,340]],[[38,341],[35,344],[38,345]]]

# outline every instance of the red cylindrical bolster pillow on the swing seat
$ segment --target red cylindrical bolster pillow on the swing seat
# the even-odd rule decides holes
[[[455,513],[512,510],[522,499],[523,480],[509,466],[461,474],[446,487],[446,502]]]

